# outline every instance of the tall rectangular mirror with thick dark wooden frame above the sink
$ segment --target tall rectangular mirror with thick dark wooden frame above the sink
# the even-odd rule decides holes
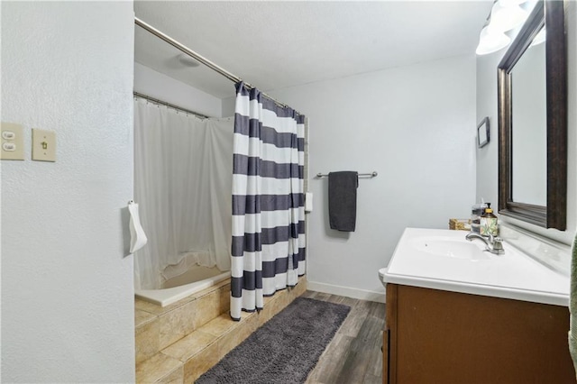
[[[499,214],[561,231],[567,206],[566,72],[563,2],[539,1],[498,67]]]

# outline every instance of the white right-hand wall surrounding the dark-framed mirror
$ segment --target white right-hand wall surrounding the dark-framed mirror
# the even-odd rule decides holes
[[[570,244],[576,230],[577,219],[577,5],[565,3],[565,29],[567,35],[567,111],[568,111],[568,167],[567,167],[567,230],[558,231],[527,224],[506,216],[499,216],[504,223],[516,224],[532,233]],[[477,57],[477,120],[490,119],[489,145],[477,150],[477,199],[498,201],[498,114],[497,114],[497,66],[507,50],[499,50]]]

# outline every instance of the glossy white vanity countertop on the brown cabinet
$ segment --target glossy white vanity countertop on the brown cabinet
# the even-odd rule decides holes
[[[388,283],[442,289],[490,297],[569,306],[569,277],[546,267],[508,242],[505,253],[484,251],[478,258],[461,258],[459,250],[485,248],[480,240],[468,242],[467,232],[407,228],[385,274]],[[452,252],[435,251],[435,243],[448,243]],[[430,245],[430,246],[429,246]]]

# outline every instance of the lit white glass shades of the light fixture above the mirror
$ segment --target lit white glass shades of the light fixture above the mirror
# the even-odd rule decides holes
[[[527,11],[519,6],[526,0],[495,0],[487,22],[483,25],[479,45],[475,53],[486,55],[507,47],[511,42],[505,32],[521,25],[527,19]]]

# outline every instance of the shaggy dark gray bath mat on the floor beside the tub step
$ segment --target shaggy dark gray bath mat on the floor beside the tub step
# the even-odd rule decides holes
[[[304,383],[350,310],[297,297],[196,382]]]

